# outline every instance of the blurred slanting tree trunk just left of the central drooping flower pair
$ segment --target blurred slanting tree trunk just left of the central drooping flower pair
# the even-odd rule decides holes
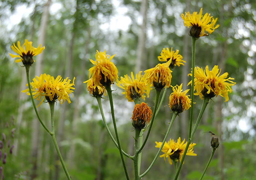
[[[86,54],[89,54],[89,43],[91,41],[91,29],[90,29],[90,26],[87,27],[87,32],[88,32],[88,36],[87,36],[87,39],[85,41],[85,47],[84,47],[84,59],[82,59],[81,61],[81,72],[82,74],[80,75],[80,77],[77,78],[76,82],[79,82],[77,84],[77,87],[76,87],[76,99],[74,101],[75,103],[75,107],[74,107],[74,114],[73,114],[73,121],[72,121],[72,133],[71,133],[71,139],[70,139],[70,152],[69,152],[69,155],[68,155],[68,162],[69,162],[69,167],[70,168],[73,168],[73,164],[74,164],[74,154],[75,154],[75,144],[72,143],[73,139],[76,138],[77,136],[77,123],[78,123],[78,120],[79,120],[79,96],[80,94],[82,93],[82,90],[85,88],[85,85],[84,85],[84,81],[86,80],[85,79],[85,62],[86,62]]]

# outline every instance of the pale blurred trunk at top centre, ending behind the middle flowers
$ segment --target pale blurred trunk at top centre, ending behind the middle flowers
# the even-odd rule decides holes
[[[147,28],[147,7],[148,7],[148,0],[142,0],[140,6],[140,13],[143,17],[142,25],[140,26],[140,34],[139,34],[139,42],[137,47],[137,60],[136,60],[136,68],[135,72],[139,73],[146,67],[142,67],[143,61],[146,60],[146,28]],[[145,66],[145,65],[144,65]]]

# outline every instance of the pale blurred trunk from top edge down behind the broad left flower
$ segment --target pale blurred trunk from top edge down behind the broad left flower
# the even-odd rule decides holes
[[[44,5],[44,11],[42,14],[42,19],[40,23],[40,34],[38,37],[38,42],[37,44],[41,44],[44,46],[45,42],[45,34],[46,34],[46,28],[47,28],[47,22],[48,22],[48,17],[49,17],[49,7],[51,4],[51,0],[48,0],[47,3]],[[36,76],[40,76],[42,74],[42,62],[43,62],[43,57],[44,57],[44,51],[36,56],[36,63],[35,63],[35,74]],[[39,109],[38,109],[39,110]],[[37,164],[38,164],[38,159],[37,159],[37,154],[38,154],[38,145],[39,145],[39,134],[40,134],[40,123],[37,119],[37,117],[33,120],[33,131],[32,131],[32,172],[31,172],[31,179],[36,178],[37,176]]]

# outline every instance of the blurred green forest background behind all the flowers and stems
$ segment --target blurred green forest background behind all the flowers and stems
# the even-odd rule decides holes
[[[229,101],[218,96],[207,106],[192,142],[197,156],[188,156],[180,179],[199,179],[211,155],[212,131],[220,140],[204,179],[253,179],[256,176],[256,2],[250,0],[4,0],[0,2],[0,131],[8,134],[6,122],[15,119],[12,154],[7,154],[4,168],[6,180],[65,179],[50,135],[43,129],[32,107],[26,89],[25,68],[14,63],[9,53],[11,45],[25,39],[33,46],[45,46],[35,57],[31,78],[42,73],[55,78],[76,77],[71,104],[55,107],[56,136],[67,169],[74,180],[125,179],[120,154],[109,138],[101,120],[95,98],[86,90],[89,58],[96,50],[114,55],[112,60],[118,75],[145,71],[158,64],[163,48],[173,47],[186,61],[172,73],[172,86],[189,82],[191,71],[191,39],[183,25],[181,13],[200,11],[218,18],[220,27],[210,36],[196,41],[196,66],[219,65],[221,74],[228,72],[236,85]],[[133,154],[134,132],[131,124],[133,102],[128,102],[122,90],[113,86],[114,107],[123,149]],[[146,148],[141,171],[145,171],[168,128],[171,113],[167,90],[163,107],[156,116]],[[198,114],[201,101],[194,108]],[[152,109],[154,95],[146,99]],[[39,103],[39,102],[38,102]],[[105,116],[111,124],[108,98],[103,100]],[[39,114],[50,126],[49,105],[43,103]],[[113,129],[112,129],[113,130]],[[188,112],[176,118],[169,138],[188,138]],[[2,138],[2,136],[1,136]],[[130,176],[133,165],[126,160]],[[2,165],[2,161],[0,162]],[[158,158],[145,180],[171,179],[173,165]]]

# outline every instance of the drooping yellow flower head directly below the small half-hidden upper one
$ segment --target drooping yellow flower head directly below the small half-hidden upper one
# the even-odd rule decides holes
[[[169,68],[171,61],[163,64],[157,64],[156,67],[148,69],[143,76],[143,79],[147,84],[153,83],[156,88],[164,88],[165,86],[170,87],[172,80],[172,71]],[[147,95],[149,94],[150,86],[147,87]]]

